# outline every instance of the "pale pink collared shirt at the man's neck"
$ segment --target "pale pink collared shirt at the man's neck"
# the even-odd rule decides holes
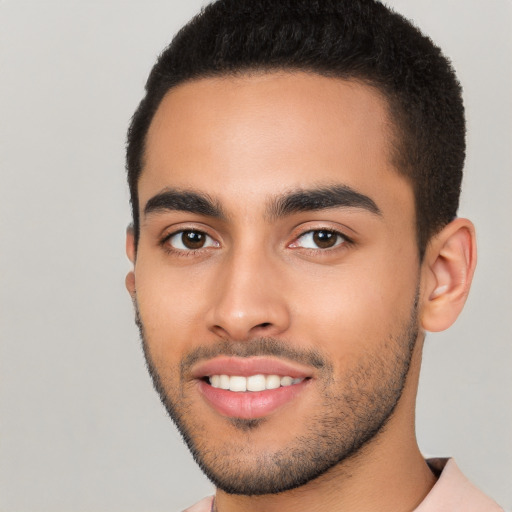
[[[428,464],[440,476],[413,512],[503,512],[461,473],[453,459],[429,459]],[[213,496],[209,496],[184,512],[212,512],[212,508]]]

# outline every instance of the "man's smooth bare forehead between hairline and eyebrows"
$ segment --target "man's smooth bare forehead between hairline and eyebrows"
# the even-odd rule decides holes
[[[164,97],[148,131],[140,208],[168,187],[228,207],[242,196],[246,208],[269,194],[332,183],[411,196],[391,141],[385,99],[355,81],[282,72],[188,82]]]

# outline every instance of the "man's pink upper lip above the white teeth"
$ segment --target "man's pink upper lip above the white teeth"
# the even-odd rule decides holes
[[[210,375],[239,375],[249,377],[258,374],[286,375],[296,379],[311,377],[312,371],[311,369],[308,370],[304,366],[291,361],[265,356],[218,356],[214,359],[197,363],[191,371],[191,376],[194,379],[202,379]]]

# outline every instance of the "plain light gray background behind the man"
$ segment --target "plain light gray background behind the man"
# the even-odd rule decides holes
[[[202,4],[0,1],[0,510],[174,511],[209,493],[146,375],[124,229],[125,130],[156,55]],[[461,215],[480,259],[429,335],[427,455],[512,509],[512,2],[394,0],[465,87]]]

